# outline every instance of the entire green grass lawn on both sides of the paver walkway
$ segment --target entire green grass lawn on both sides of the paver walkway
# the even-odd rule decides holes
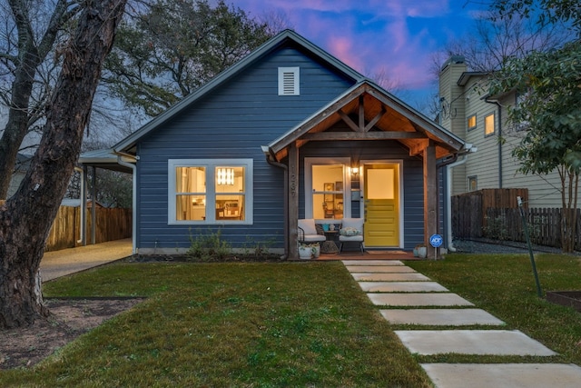
[[[581,313],[537,297],[527,254],[407,264],[559,355],[411,355],[393,333],[409,326],[390,326],[339,262],[120,263],[44,294],[148,299],[0,386],[415,388],[430,386],[419,362],[581,365]],[[545,292],[581,290],[579,257],[537,255],[537,269]]]

